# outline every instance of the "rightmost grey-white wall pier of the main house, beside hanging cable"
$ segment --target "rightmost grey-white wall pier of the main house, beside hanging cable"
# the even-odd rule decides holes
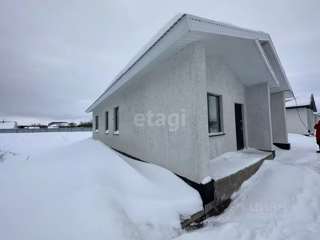
[[[275,143],[288,143],[284,92],[270,95],[272,140]]]

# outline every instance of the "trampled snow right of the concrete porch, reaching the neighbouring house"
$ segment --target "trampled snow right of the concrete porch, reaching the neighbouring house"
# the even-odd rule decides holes
[[[320,233],[320,154],[314,137],[289,134],[292,150],[276,148],[233,201],[206,228],[177,239],[318,240]]]

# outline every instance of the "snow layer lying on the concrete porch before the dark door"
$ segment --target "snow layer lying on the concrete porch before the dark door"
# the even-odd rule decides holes
[[[210,176],[219,180],[259,162],[269,154],[254,148],[224,153],[210,160]]]

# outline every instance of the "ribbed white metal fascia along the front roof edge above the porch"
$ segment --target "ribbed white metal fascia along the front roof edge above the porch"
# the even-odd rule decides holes
[[[268,33],[258,32],[251,29],[240,28],[222,22],[217,22],[205,18],[187,14],[190,30],[201,31],[207,33],[216,33],[228,36],[237,36],[244,38],[252,38],[259,40],[269,40]]]

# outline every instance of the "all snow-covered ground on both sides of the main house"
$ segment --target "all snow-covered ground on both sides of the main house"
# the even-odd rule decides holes
[[[319,239],[314,137],[289,134],[292,150],[275,147],[276,158],[244,182],[223,214],[187,232],[179,215],[202,208],[199,194],[91,134],[0,134],[1,145],[20,153],[0,164],[0,239]]]

